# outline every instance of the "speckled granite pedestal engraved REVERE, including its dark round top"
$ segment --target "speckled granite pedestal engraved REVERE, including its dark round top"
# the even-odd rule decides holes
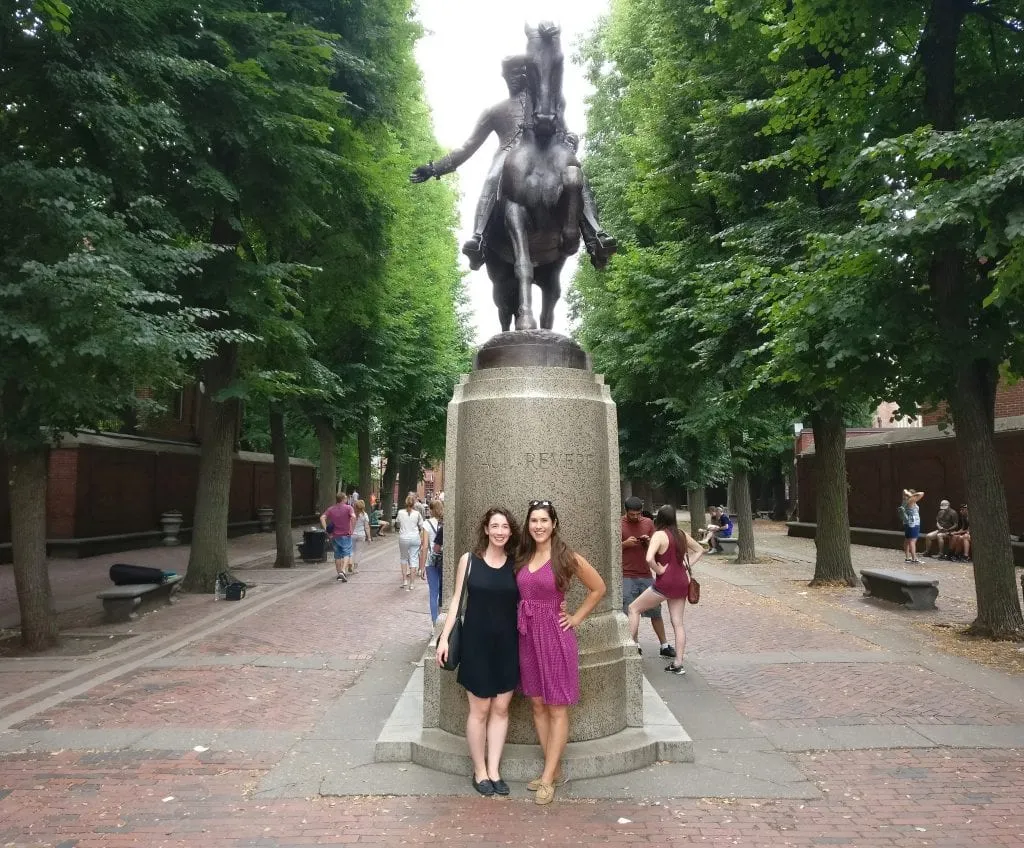
[[[656,732],[644,730],[649,712],[645,681],[622,612],[617,434],[615,407],[603,380],[574,342],[548,331],[496,336],[480,349],[474,371],[462,379],[449,404],[445,576],[455,574],[459,557],[474,546],[487,509],[506,507],[521,522],[528,502],[545,499],[558,510],[565,541],[607,586],[578,631],[581,697],[569,713],[566,754],[566,768],[575,776],[613,774],[655,757],[692,758],[685,731],[667,709],[656,716]],[[442,608],[453,583],[444,581]],[[584,594],[573,582],[569,609],[579,606]],[[434,639],[442,624],[443,613],[435,623]],[[378,759],[404,757],[441,770],[465,770],[466,693],[455,673],[437,668],[432,648],[419,673],[420,696],[412,706],[408,698],[399,702],[378,741]],[[419,718],[411,721],[415,710]],[[666,739],[662,749],[652,741],[656,734]],[[523,763],[524,774],[536,771],[540,749],[529,705],[518,695],[508,743],[505,773],[516,778],[516,763]]]

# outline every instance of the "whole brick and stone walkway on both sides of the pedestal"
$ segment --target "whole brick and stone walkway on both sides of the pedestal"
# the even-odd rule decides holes
[[[330,565],[282,573],[254,559],[241,604],[185,598],[131,628],[90,628],[123,637],[102,651],[0,660],[0,846],[1024,845],[1021,678],[936,650],[921,620],[855,590],[808,592],[810,542],[762,547],[774,557],[764,566],[701,569],[687,677],[659,674],[646,626],[645,669],[694,737],[697,774],[713,750],[770,752],[815,798],[677,797],[673,785],[568,797],[585,783],[549,808],[518,785],[507,800],[260,797],[310,727],[353,686],[408,667],[398,661],[426,638],[425,589],[397,588],[387,540],[347,585]],[[353,748],[359,731],[342,728]]]

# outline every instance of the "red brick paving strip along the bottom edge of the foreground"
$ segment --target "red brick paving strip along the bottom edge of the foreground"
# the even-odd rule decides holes
[[[705,845],[1019,848],[1017,752],[795,756],[818,801],[247,798],[269,767],[237,755],[16,755],[4,764],[0,845]],[[621,819],[628,819],[622,821]]]

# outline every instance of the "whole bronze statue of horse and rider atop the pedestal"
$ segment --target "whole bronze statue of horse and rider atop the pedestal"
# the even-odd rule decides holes
[[[541,327],[551,329],[561,294],[558,278],[566,256],[579,249],[581,234],[595,267],[604,267],[615,251],[614,239],[598,223],[575,157],[577,138],[565,129],[560,31],[542,24],[525,32],[526,54],[502,63],[508,99],[483,113],[465,144],[410,176],[413,182],[439,178],[472,156],[492,132],[498,135],[501,146],[463,253],[472,268],[486,265],[505,331],[513,319],[517,330],[537,327],[534,283],[543,293]]]

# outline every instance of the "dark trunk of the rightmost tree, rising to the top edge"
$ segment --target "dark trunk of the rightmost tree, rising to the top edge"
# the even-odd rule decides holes
[[[932,0],[921,43],[925,79],[924,117],[936,130],[956,129],[957,45],[966,0]],[[954,173],[944,175],[955,178]],[[956,355],[955,388],[948,398],[956,431],[956,452],[971,512],[981,520],[971,526],[978,617],[971,625],[977,635],[993,639],[1024,637],[1024,618],[1017,595],[1007,498],[995,453],[994,394],[996,364],[973,355],[975,329],[971,315],[980,293],[972,286],[977,274],[973,256],[950,247],[938,250],[929,267],[929,288],[936,300],[943,336]],[[965,305],[968,308],[965,308]]]

